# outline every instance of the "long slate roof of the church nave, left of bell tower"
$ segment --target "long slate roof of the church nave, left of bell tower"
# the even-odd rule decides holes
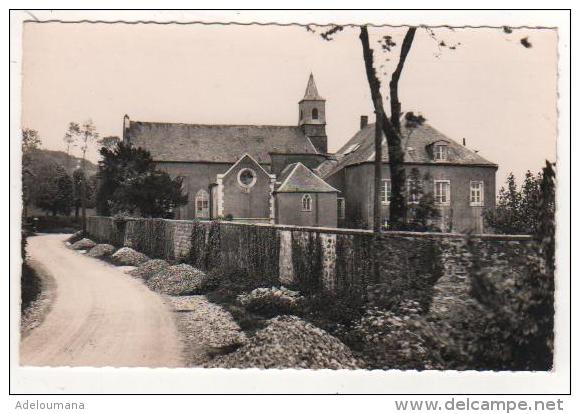
[[[155,161],[235,163],[248,153],[269,164],[270,152],[316,154],[298,126],[197,125],[131,121],[128,140]]]

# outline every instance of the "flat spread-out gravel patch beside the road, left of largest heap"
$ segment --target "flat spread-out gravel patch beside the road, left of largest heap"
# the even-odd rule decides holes
[[[168,300],[182,334],[187,366],[202,365],[247,342],[232,315],[205,296],[170,296]]]

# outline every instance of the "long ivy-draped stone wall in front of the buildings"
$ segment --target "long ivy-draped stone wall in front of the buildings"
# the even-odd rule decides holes
[[[325,291],[352,300],[401,299],[441,312],[469,296],[474,254],[498,285],[513,284],[534,254],[528,236],[387,232],[236,222],[90,217],[101,242],[202,269],[234,268],[268,284]],[[468,246],[471,244],[471,246]],[[373,264],[378,263],[378,268]]]

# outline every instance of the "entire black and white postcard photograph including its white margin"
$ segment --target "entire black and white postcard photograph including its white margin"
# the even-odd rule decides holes
[[[569,372],[549,19],[102,13],[11,13],[22,372]]]

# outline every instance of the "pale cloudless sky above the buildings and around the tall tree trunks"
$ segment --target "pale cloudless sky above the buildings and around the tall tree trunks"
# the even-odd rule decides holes
[[[300,26],[25,23],[22,126],[64,150],[71,121],[101,136],[132,120],[296,125],[309,74],[326,99],[329,150],[373,120],[357,28],[332,41]],[[498,187],[556,160],[557,32],[419,28],[400,81],[403,111],[499,165]],[[392,36],[391,52],[378,43]],[[404,29],[371,28],[383,87]],[[520,44],[527,37],[530,48]],[[440,48],[439,42],[455,46]],[[386,75],[383,75],[383,71]],[[383,88],[383,95],[388,93]],[[388,104],[386,105],[388,107]],[[73,149],[80,154],[78,148]],[[96,147],[88,154],[98,160]]]

